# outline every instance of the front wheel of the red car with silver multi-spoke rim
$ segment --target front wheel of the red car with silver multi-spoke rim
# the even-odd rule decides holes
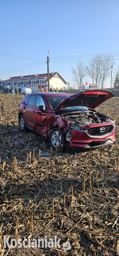
[[[66,148],[65,132],[60,131],[59,141],[58,141],[58,135],[59,135],[59,128],[58,127],[51,130],[50,137],[49,137],[50,146],[53,148],[53,150],[56,150],[56,145],[59,146],[59,145],[63,144],[63,152],[64,152],[65,148]]]

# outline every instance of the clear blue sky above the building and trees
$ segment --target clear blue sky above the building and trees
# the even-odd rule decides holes
[[[49,50],[51,61],[61,61],[58,56],[119,52],[118,0],[4,0],[0,7],[0,53],[42,60],[0,55],[1,79],[47,73]],[[87,64],[89,58],[81,60]],[[73,84],[70,70],[76,65],[50,62],[50,72],[59,72]],[[117,65],[119,60],[113,71]],[[86,80],[92,82],[89,77]],[[110,78],[106,85],[110,85]]]

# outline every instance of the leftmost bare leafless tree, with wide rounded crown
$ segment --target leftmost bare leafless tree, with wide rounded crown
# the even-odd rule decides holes
[[[73,74],[73,81],[78,85],[78,89],[81,88],[81,81],[87,75],[87,66],[83,62],[78,62],[77,69],[71,68]]]

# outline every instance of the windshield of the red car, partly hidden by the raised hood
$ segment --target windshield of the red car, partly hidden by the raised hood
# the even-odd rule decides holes
[[[61,102],[63,102],[65,99],[69,98],[70,96],[53,96],[53,97],[48,97],[48,101],[50,104],[51,109],[57,108]],[[78,111],[78,110],[88,110],[87,107],[82,106],[71,106],[71,107],[66,107],[66,108],[61,108],[61,111]]]

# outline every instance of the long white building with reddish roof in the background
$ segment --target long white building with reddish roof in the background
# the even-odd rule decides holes
[[[60,90],[61,88],[66,88],[67,82],[60,76],[58,72],[52,72],[49,74],[49,84],[52,88]],[[10,77],[8,80],[4,81],[4,87],[11,89],[14,88],[30,88],[31,85],[48,85],[48,74],[35,74],[29,76],[16,76]]]

